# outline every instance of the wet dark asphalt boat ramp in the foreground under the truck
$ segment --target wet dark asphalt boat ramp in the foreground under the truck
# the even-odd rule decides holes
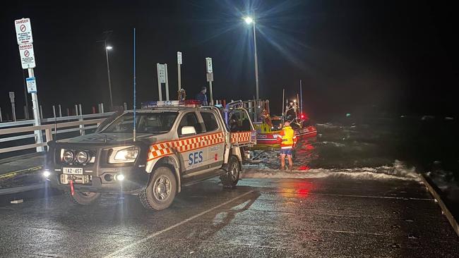
[[[424,185],[352,178],[207,180],[167,210],[107,195],[0,207],[1,257],[457,257]]]

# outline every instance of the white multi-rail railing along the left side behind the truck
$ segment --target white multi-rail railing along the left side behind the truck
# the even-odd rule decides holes
[[[23,149],[33,149],[37,147],[47,146],[47,142],[53,139],[53,135],[57,133],[71,133],[71,132],[80,132],[80,135],[85,134],[85,130],[95,129],[97,126],[102,123],[102,121],[107,118],[107,116],[112,115],[113,112],[108,113],[93,113],[88,115],[81,116],[64,116],[57,118],[44,118],[41,120],[42,125],[34,126],[33,120],[26,121],[16,121],[16,122],[7,122],[0,123],[0,144],[2,142],[13,142],[18,140],[24,140],[28,138],[34,138],[36,135],[35,130],[40,131],[43,134],[44,131],[44,142],[37,142],[23,145],[23,143],[18,144],[13,147],[1,147],[0,145],[0,154],[6,152],[16,152]],[[85,120],[86,119],[86,120]],[[63,122],[66,121],[66,122]],[[24,126],[28,125],[28,126]],[[57,129],[57,130],[56,130]],[[61,130],[59,130],[61,129]],[[21,134],[26,133],[26,134]],[[20,135],[17,135],[20,134]],[[14,136],[7,136],[14,135]],[[4,137],[6,136],[6,137]],[[35,137],[36,139],[37,137]]]

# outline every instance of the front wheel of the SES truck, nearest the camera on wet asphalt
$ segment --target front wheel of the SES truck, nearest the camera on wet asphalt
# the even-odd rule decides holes
[[[170,168],[160,166],[157,168],[139,199],[145,209],[160,211],[166,209],[174,201],[177,194],[177,180]]]

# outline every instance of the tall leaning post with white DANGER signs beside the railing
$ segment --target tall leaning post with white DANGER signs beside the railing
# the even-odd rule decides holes
[[[28,69],[29,78],[27,78],[28,92],[32,94],[32,110],[34,125],[40,126],[40,111],[37,97],[37,82],[35,81],[35,53],[33,51],[32,25],[29,18],[22,18],[14,21],[16,28],[16,39],[19,45],[20,62],[23,69]],[[30,84],[30,86],[29,86]],[[27,101],[27,99],[26,99]],[[35,142],[43,142],[42,130],[35,130]],[[44,152],[44,147],[37,147],[37,152]]]

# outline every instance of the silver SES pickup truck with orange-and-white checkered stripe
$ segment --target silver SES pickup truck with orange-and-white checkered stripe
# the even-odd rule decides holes
[[[230,133],[227,118],[234,112],[248,121],[244,130]],[[182,186],[199,180],[220,176],[224,187],[234,188],[242,170],[240,149],[255,144],[256,131],[240,106],[148,102],[136,113],[115,113],[95,133],[49,142],[45,167],[51,185],[77,204],[92,204],[102,192],[123,192],[160,210]]]

